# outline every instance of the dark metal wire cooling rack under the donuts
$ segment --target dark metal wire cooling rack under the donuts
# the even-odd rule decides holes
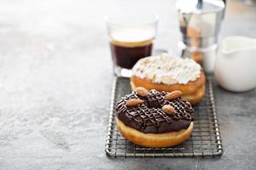
[[[192,136],[177,146],[168,148],[146,148],[124,139],[115,124],[115,105],[130,94],[130,80],[115,77],[113,80],[112,99],[110,106],[108,133],[105,151],[112,157],[186,157],[186,156],[221,156],[223,146],[218,129],[212,80],[207,78],[206,95],[195,109],[194,130]]]

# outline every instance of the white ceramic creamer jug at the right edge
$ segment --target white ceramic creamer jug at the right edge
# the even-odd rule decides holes
[[[256,39],[227,37],[220,44],[215,61],[215,79],[234,92],[256,87]]]

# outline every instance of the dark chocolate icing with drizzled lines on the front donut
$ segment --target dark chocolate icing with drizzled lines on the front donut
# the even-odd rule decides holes
[[[132,92],[119,100],[117,116],[125,126],[143,133],[171,133],[188,128],[193,121],[192,106],[180,97],[166,100],[166,94],[150,90],[146,97],[142,97]],[[129,107],[125,105],[129,99],[143,99],[144,103]],[[166,114],[162,110],[163,105],[172,105],[175,112],[172,115]]]

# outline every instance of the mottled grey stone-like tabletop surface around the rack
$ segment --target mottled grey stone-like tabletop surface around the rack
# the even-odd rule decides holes
[[[220,39],[256,38],[255,4],[228,3]],[[222,157],[105,155],[113,73],[103,16],[127,8],[160,14],[156,48],[175,51],[170,0],[0,1],[0,170],[256,167],[256,90],[234,94],[217,85]]]

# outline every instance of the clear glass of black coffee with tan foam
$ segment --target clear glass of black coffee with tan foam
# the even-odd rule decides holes
[[[106,22],[113,72],[118,77],[130,77],[137,60],[152,54],[158,16],[114,15],[107,16]]]

